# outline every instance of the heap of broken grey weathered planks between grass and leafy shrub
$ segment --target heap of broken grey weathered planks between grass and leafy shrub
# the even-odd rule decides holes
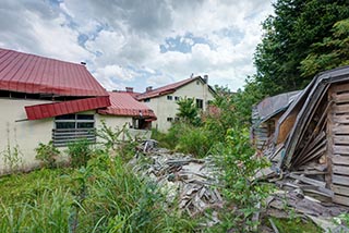
[[[134,171],[156,181],[167,194],[169,205],[178,200],[179,208],[191,217],[206,214],[204,210],[207,208],[222,207],[212,158],[196,159],[190,155],[171,152],[149,146],[149,142],[139,150],[142,152],[131,160]],[[215,211],[206,217],[210,219],[207,225],[218,222]]]

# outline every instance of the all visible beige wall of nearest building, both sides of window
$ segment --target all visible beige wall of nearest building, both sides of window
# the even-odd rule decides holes
[[[25,120],[25,106],[48,103],[46,100],[26,100],[0,98],[0,174],[9,172],[10,164],[4,162],[7,149],[10,147],[12,156],[14,148],[19,149],[21,162],[17,162],[19,169],[29,170],[39,164],[35,159],[35,148],[39,143],[48,144],[52,138],[52,128],[55,127],[53,118],[28,121]],[[80,112],[83,114],[95,114],[95,127],[100,128],[101,120],[111,127],[125,124],[132,124],[131,116],[100,115],[96,111]],[[21,121],[24,120],[24,121]],[[132,136],[149,138],[151,131],[130,130]],[[64,152],[64,147],[59,148]]]

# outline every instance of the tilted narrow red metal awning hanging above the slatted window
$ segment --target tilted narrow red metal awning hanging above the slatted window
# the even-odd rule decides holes
[[[132,98],[132,97],[131,97]],[[84,98],[63,102],[52,102],[36,106],[26,106],[25,111],[28,120],[39,120],[56,115],[70,114],[87,111],[92,109],[105,108],[110,106],[108,96]]]

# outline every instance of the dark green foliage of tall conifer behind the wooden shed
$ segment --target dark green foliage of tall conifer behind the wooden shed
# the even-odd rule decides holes
[[[314,52],[313,45],[330,37],[335,23],[349,17],[346,0],[278,0],[274,8],[275,15],[263,23],[264,37],[254,59],[264,96],[303,88],[314,72],[301,76],[301,62]],[[326,65],[318,70],[323,69]]]

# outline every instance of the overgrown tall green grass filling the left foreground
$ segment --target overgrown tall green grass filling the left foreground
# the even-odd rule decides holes
[[[0,179],[0,232],[191,232],[155,183],[120,157],[94,156],[80,169],[43,169]]]

